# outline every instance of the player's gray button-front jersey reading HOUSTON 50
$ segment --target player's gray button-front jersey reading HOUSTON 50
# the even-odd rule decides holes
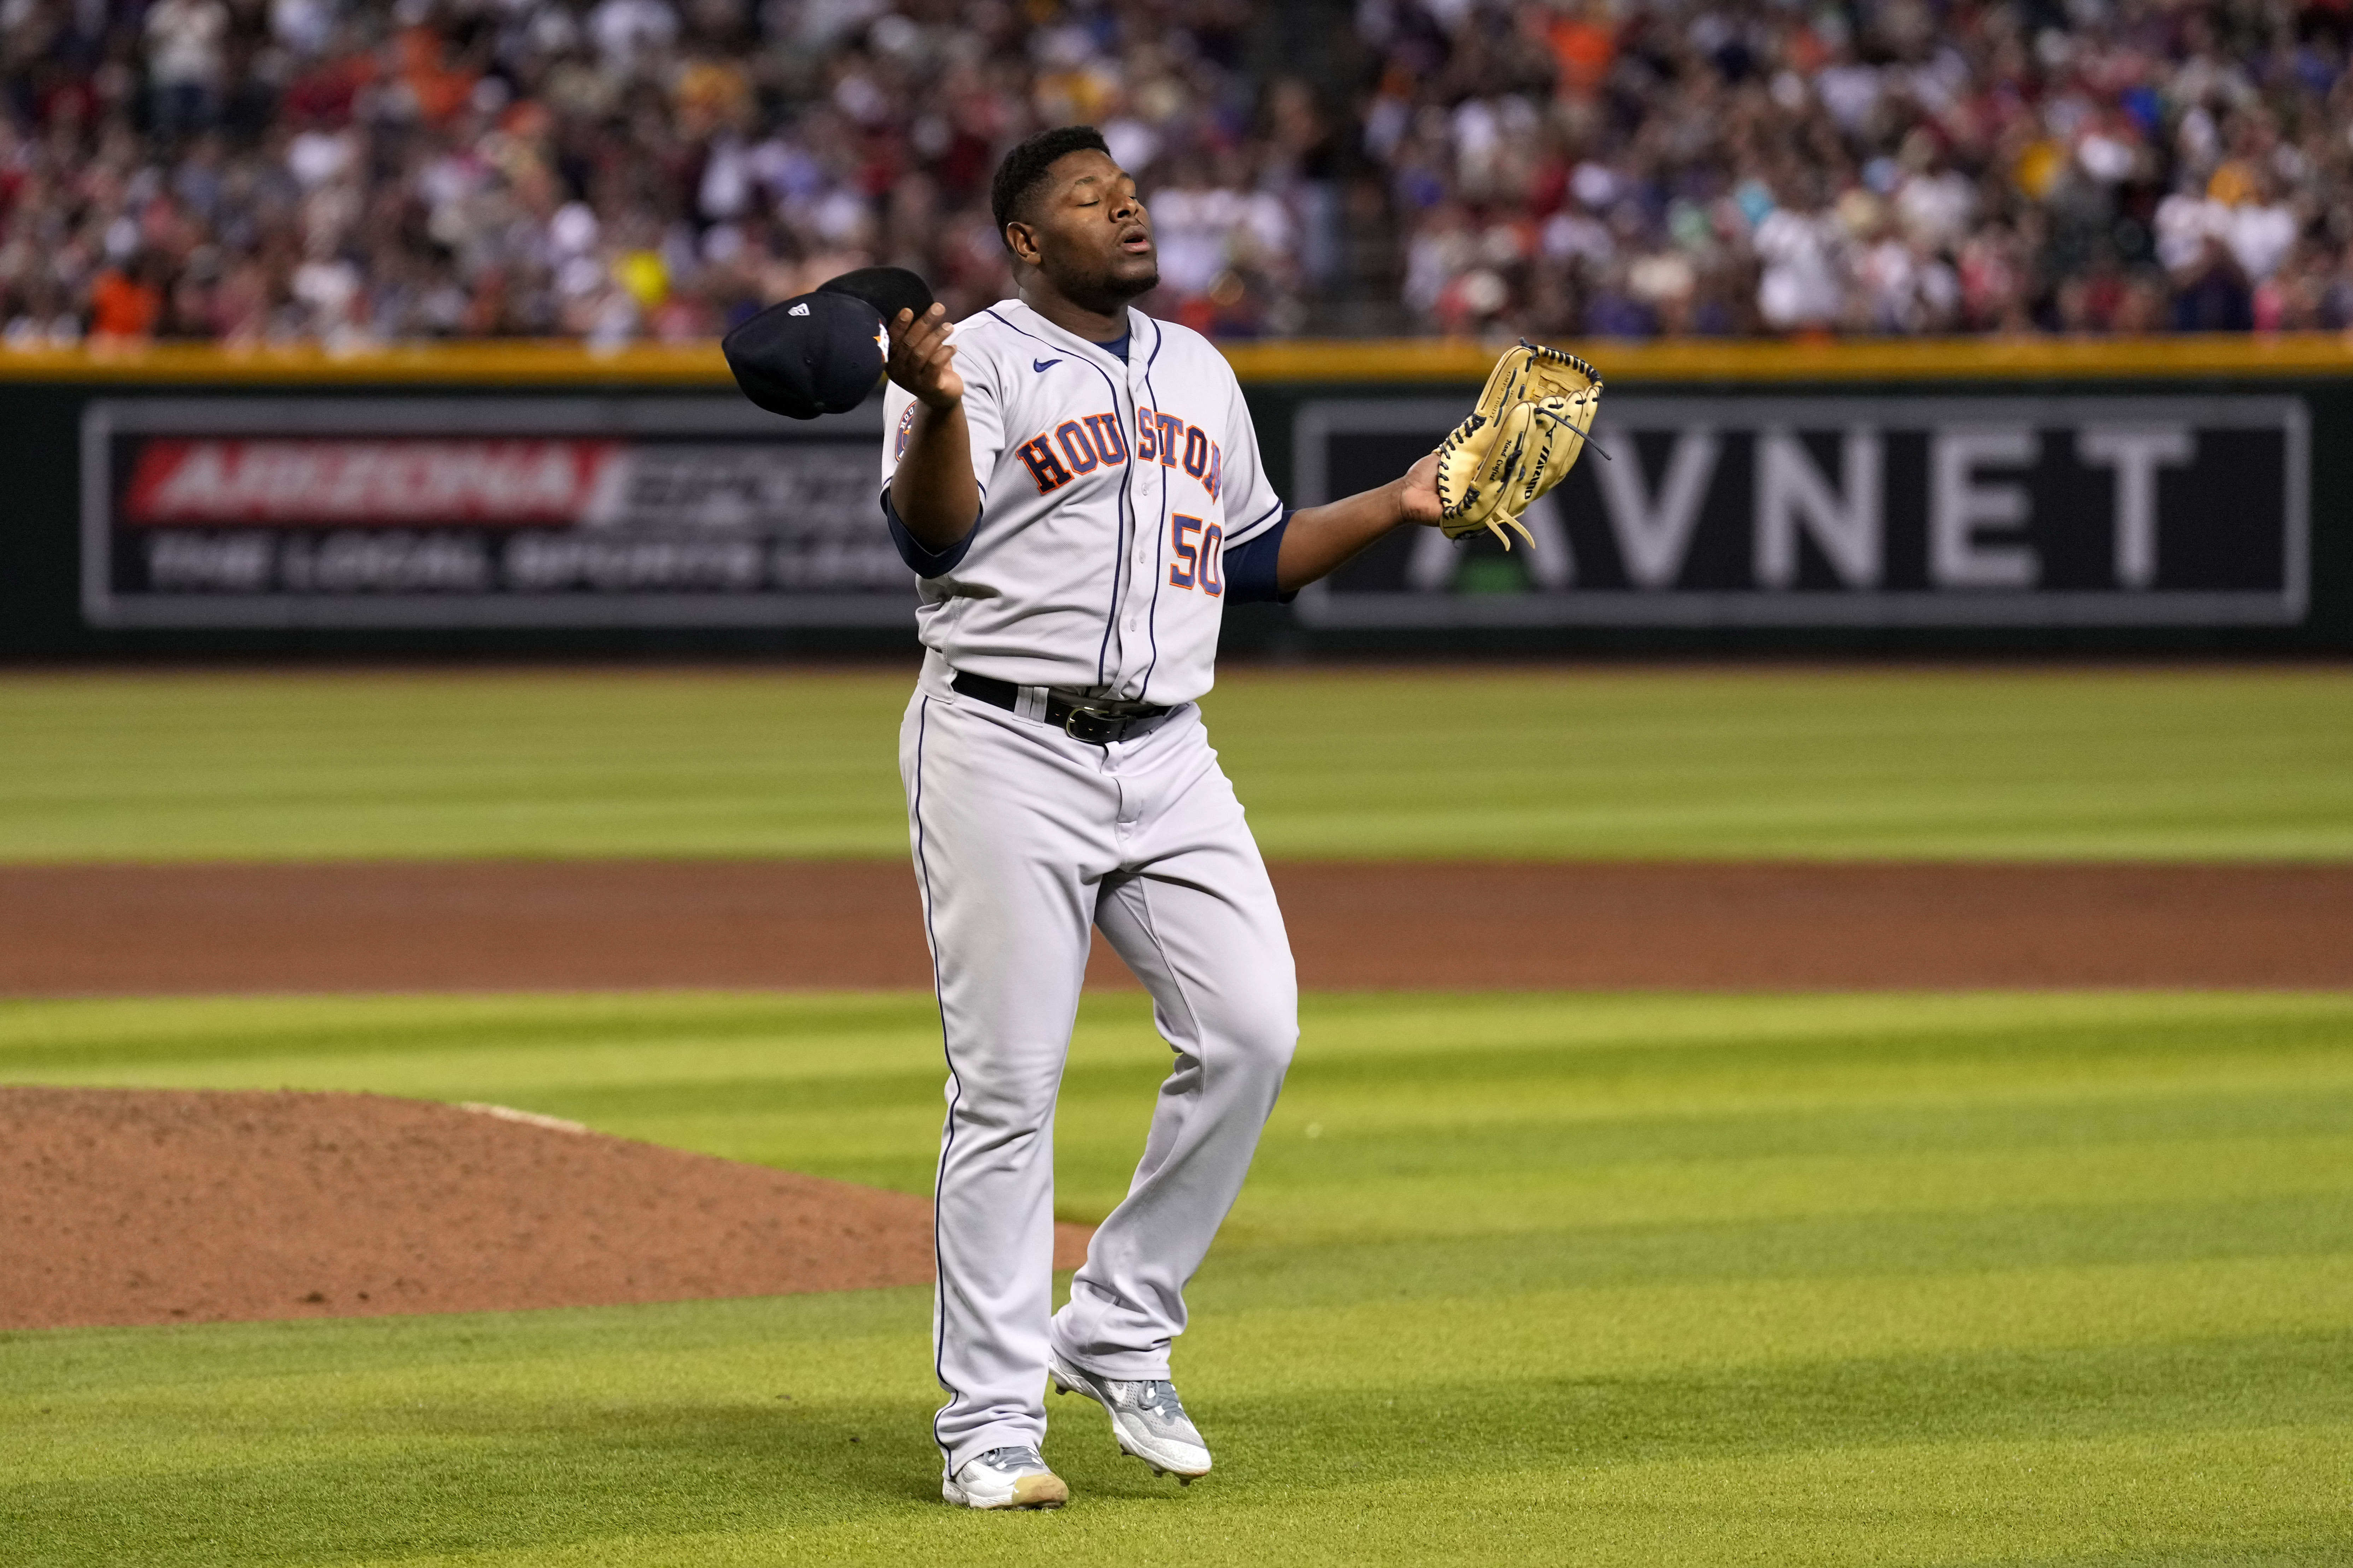
[[[1125,364],[1019,301],[955,327],[981,520],[911,555],[920,637],[955,670],[1146,703],[1209,689],[1226,552],[1282,501],[1224,355],[1141,310],[1127,324]],[[885,489],[913,414],[892,383]]]

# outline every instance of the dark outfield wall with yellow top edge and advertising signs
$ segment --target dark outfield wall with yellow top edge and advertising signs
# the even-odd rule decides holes
[[[1398,534],[1228,646],[2353,651],[2346,339],[1579,350],[1609,456],[1534,548]],[[1231,357],[1308,505],[1426,451],[1492,350]],[[0,355],[0,654],[904,651],[878,442],[878,402],[772,418],[711,348]]]

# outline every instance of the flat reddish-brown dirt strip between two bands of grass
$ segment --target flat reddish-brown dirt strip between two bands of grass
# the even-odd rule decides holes
[[[2341,987],[2348,865],[1289,863],[1301,985]],[[1132,985],[1101,947],[1092,985]],[[0,867],[0,994],[932,985],[889,860]]]

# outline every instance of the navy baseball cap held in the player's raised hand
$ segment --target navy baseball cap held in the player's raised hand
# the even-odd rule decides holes
[[[859,268],[769,306],[729,331],[720,350],[744,395],[769,414],[847,414],[882,378],[882,322],[929,308],[932,287],[915,273]]]

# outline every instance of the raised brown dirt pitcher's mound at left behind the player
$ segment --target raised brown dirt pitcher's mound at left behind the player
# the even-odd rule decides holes
[[[1054,1227],[1054,1267],[1087,1229]],[[0,1088],[0,1328],[908,1286],[932,1206],[499,1107]]]

